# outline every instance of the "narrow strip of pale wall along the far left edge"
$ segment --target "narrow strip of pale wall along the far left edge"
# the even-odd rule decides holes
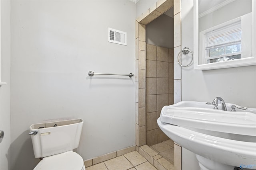
[[[4,139],[0,143],[0,170],[10,169],[10,0],[1,0],[1,74],[2,82],[7,85],[0,86],[0,130],[4,131]]]

